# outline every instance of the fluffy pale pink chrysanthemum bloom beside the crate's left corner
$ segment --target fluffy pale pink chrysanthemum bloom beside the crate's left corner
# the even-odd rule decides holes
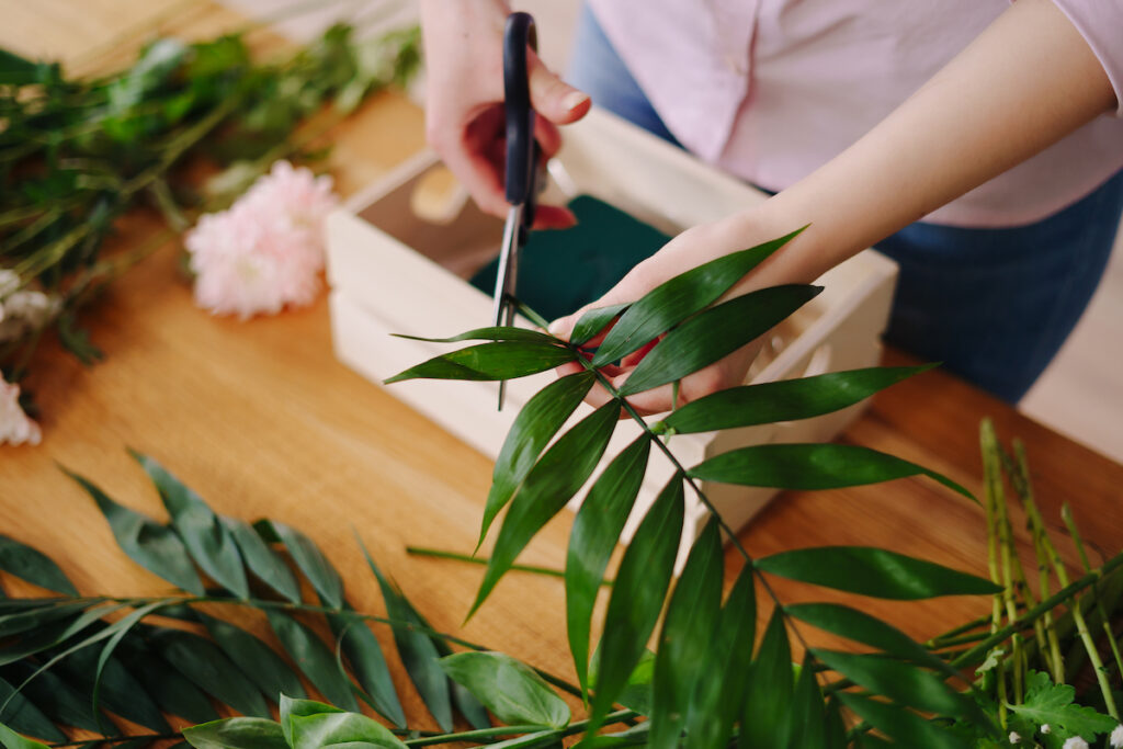
[[[184,239],[195,302],[247,319],[311,303],[323,270],[331,177],[277,162],[229,210],[202,217]]]

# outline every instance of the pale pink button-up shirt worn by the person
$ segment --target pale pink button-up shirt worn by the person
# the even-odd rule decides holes
[[[1007,0],[590,2],[675,137],[769,190],[793,184],[865,135],[1008,7]],[[1029,223],[1123,167],[1123,0],[1054,2],[1103,63],[1120,109],[925,220]]]

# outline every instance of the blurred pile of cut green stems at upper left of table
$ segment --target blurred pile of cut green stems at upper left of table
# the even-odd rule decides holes
[[[4,378],[25,376],[49,327],[83,362],[99,358],[76,317],[99,289],[200,212],[225,208],[276,159],[321,156],[309,145],[317,134],[294,137],[303,122],[353,110],[418,63],[416,27],[357,40],[347,25],[274,63],[252,60],[245,33],[163,38],[131,67],[83,80],[0,51]],[[213,174],[204,183],[200,165]],[[167,231],[102,253],[113,222],[140,204],[162,211]]]

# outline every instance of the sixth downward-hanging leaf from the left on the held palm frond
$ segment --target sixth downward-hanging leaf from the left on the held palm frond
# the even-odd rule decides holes
[[[757,596],[752,567],[746,564],[725,599],[718,632],[706,655],[705,673],[721,678],[701,679],[686,716],[691,746],[723,749],[740,716],[752,664],[756,638]]]

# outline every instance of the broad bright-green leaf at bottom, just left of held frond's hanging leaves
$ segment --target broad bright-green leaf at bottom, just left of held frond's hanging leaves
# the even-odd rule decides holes
[[[532,668],[510,656],[457,652],[441,658],[440,666],[508,725],[569,724],[569,706]]]

